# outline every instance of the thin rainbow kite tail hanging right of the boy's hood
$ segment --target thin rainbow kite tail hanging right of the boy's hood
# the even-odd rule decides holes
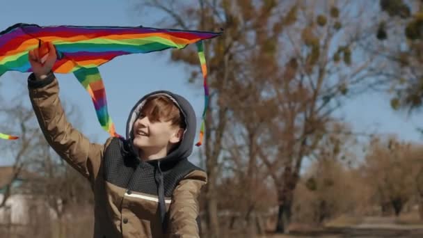
[[[205,133],[206,112],[207,112],[207,108],[209,106],[209,86],[207,86],[207,65],[206,65],[206,58],[205,58],[205,54],[204,54],[204,45],[202,43],[202,40],[197,42],[197,49],[198,49],[198,58],[200,58],[202,77],[204,79],[204,82],[203,82],[203,86],[204,86],[204,110],[202,111],[200,138],[198,140],[198,143],[195,144],[196,146],[200,146],[200,145],[202,145],[202,141],[203,141],[204,133]]]

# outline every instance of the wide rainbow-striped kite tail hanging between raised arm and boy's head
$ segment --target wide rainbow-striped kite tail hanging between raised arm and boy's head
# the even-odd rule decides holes
[[[122,137],[116,133],[115,125],[109,116],[106,90],[104,89],[102,76],[98,68],[80,68],[74,71],[74,75],[77,77],[79,83],[82,84],[83,88],[90,94],[95,112],[97,113],[97,119],[100,125],[102,125],[102,128],[113,137]]]

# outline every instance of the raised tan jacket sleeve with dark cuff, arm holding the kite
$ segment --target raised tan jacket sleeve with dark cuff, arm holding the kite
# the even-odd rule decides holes
[[[33,111],[51,148],[93,183],[98,175],[104,145],[90,143],[67,122],[58,97],[58,81],[53,73],[42,80],[35,80],[34,74],[31,74],[28,88]]]

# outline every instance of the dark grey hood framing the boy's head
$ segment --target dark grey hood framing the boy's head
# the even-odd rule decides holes
[[[127,141],[130,145],[130,150],[136,156],[138,156],[138,150],[135,150],[134,144],[133,144],[133,135],[132,135],[132,127],[134,126],[134,122],[136,118],[138,118],[138,113],[143,108],[143,105],[145,104],[145,100],[147,97],[150,97],[152,95],[165,95],[166,97],[169,97],[170,100],[175,102],[175,104],[179,107],[179,109],[182,111],[182,114],[185,118],[186,123],[186,129],[184,132],[184,136],[182,137],[182,142],[179,143],[179,146],[172,150],[166,157],[163,157],[161,159],[154,159],[154,161],[175,161],[179,159],[184,159],[189,157],[193,151],[193,143],[195,138],[195,132],[196,132],[196,117],[195,117],[195,111],[191,104],[186,100],[184,97],[177,95],[175,93],[170,93],[166,90],[159,90],[152,93],[149,93],[145,95],[144,97],[139,100],[134,107],[131,109],[131,113],[129,113],[129,117],[127,120],[127,129],[126,129],[126,136]]]

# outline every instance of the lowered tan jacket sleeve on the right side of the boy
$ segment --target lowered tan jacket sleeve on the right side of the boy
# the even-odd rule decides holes
[[[200,237],[198,197],[206,183],[207,175],[200,170],[194,170],[179,182],[169,207],[170,237]]]

